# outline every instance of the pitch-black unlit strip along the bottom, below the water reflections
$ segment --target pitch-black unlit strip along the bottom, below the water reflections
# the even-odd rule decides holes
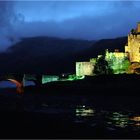
[[[136,130],[74,123],[67,116],[1,112],[1,138],[140,138]]]

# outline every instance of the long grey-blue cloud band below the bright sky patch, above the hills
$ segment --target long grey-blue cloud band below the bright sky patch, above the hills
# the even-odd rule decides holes
[[[135,28],[139,21],[140,8],[135,7],[135,4],[130,6],[131,10],[127,5],[125,5],[126,7],[122,7],[124,3],[117,3],[116,9],[114,9],[114,2],[106,3],[105,7],[101,5],[104,3],[96,4],[99,4],[103,8],[94,9],[92,14],[82,13],[79,16],[64,18],[61,21],[57,21],[53,17],[54,20],[24,22],[17,29],[21,36],[47,35],[62,38],[97,40],[126,36],[131,28]],[[98,9],[107,9],[108,11],[104,14],[96,14]]]

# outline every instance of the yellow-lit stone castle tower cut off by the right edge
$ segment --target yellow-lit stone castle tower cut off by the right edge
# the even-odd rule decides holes
[[[135,30],[128,34],[128,44],[125,46],[130,62],[140,62],[140,22]]]

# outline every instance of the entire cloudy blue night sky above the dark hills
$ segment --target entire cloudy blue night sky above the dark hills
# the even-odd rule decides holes
[[[21,37],[127,36],[139,21],[140,1],[0,1],[0,50]]]

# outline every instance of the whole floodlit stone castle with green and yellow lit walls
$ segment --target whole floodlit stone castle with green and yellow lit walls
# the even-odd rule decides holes
[[[122,73],[140,74],[140,22],[128,34],[125,52],[106,50],[104,56],[98,55],[89,62],[76,62],[76,76]]]

